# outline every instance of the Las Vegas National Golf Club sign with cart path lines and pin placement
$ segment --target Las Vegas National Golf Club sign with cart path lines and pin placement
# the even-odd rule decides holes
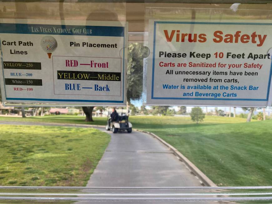
[[[125,22],[1,22],[3,102],[126,105]]]

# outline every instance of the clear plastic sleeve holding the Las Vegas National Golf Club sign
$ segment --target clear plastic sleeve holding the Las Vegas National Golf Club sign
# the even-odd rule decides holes
[[[125,106],[126,2],[2,2],[4,106]]]

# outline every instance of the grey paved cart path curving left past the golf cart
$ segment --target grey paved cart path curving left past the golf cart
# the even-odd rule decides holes
[[[33,122],[5,122],[9,125],[50,125]],[[86,125],[58,124],[65,127]],[[89,126],[90,127],[90,126]],[[133,131],[113,134],[87,187],[201,187],[189,169],[161,142],[149,134]]]

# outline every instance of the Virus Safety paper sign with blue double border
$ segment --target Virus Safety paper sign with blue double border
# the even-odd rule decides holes
[[[269,22],[150,20],[146,104],[267,106],[271,33]]]

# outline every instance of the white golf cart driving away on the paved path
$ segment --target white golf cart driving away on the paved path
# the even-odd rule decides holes
[[[112,119],[108,114],[106,130],[112,130],[113,133],[118,131],[128,131],[128,133],[131,133],[132,124],[128,122],[128,116],[126,115],[116,116]]]

